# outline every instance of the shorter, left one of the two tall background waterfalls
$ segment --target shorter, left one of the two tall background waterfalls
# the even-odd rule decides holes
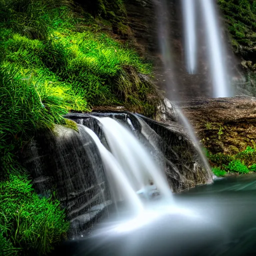
[[[196,72],[196,27],[195,4],[193,0],[182,0],[186,68],[188,73]]]

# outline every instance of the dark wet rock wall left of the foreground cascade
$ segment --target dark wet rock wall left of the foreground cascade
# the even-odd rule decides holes
[[[54,132],[38,133],[25,150],[24,164],[38,194],[55,191],[70,220],[70,235],[100,219],[102,202],[109,199],[106,178],[97,147],[82,127],[77,132],[56,125]]]

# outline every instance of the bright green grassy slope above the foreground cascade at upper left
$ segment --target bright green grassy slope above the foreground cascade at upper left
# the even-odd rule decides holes
[[[106,34],[93,32],[68,1],[0,3],[0,158],[5,173],[17,169],[13,156],[34,131],[65,124],[61,115],[68,110],[124,105],[154,115],[158,92],[145,76],[150,65]]]

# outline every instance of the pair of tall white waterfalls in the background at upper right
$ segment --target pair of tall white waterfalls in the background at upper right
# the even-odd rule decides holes
[[[199,5],[198,5],[199,3]],[[206,54],[209,63],[213,97],[231,96],[225,47],[213,0],[182,0],[186,66],[189,73],[196,71],[197,51],[203,45],[196,42],[196,20],[202,16]],[[206,64],[207,65],[207,64]]]

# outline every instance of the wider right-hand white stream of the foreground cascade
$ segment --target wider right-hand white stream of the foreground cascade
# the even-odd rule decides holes
[[[129,184],[143,191],[153,182],[160,194],[171,199],[171,191],[164,170],[157,166],[146,148],[117,121],[109,117],[95,117],[101,123],[111,152],[118,160]]]

